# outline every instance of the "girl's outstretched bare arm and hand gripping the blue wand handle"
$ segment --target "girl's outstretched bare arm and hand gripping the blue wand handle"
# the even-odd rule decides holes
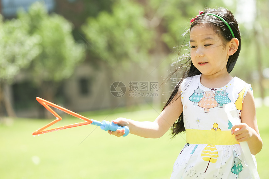
[[[181,93],[181,90],[179,91]],[[181,95],[179,95],[178,92],[172,102],[165,107],[154,122],[138,122],[126,118],[118,118],[112,122],[119,126],[128,126],[131,134],[146,138],[159,138],[174,124],[182,111]],[[118,129],[115,132],[109,131],[109,134],[120,137],[124,135],[124,130]]]

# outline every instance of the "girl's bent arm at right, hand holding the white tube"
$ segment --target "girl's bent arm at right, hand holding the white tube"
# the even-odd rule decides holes
[[[251,154],[255,155],[261,151],[262,140],[257,125],[254,97],[250,89],[242,104],[241,122],[232,127],[232,134],[238,142],[247,141]],[[236,128],[239,130],[235,131]]]

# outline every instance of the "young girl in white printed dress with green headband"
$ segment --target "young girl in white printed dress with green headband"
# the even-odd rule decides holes
[[[238,24],[225,9],[206,9],[190,22],[189,69],[175,86],[154,122],[118,118],[130,133],[161,137],[170,127],[176,136],[186,132],[187,144],[173,167],[172,179],[250,179],[239,142],[246,141],[252,154],[262,148],[250,84],[231,77],[241,48]],[[234,103],[241,118],[232,126],[224,107]],[[109,131],[116,136],[124,130]]]

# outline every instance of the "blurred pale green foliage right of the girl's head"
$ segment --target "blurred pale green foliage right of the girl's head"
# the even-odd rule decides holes
[[[237,8],[242,8],[238,1]],[[240,77],[251,83],[255,97],[268,96],[269,80],[264,77],[263,71],[269,67],[268,53],[268,11],[269,2],[266,0],[253,1],[251,9],[244,10],[239,21],[242,38],[242,47],[238,61],[236,62],[233,76]],[[252,10],[252,11],[251,11]],[[247,16],[251,14],[251,17]],[[240,15],[240,14],[237,14]],[[240,17],[240,16],[239,16]]]

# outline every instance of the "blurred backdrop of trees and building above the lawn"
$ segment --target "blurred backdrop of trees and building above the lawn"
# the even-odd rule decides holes
[[[242,50],[232,75],[251,83],[255,96],[264,99],[269,83],[268,4],[266,0],[25,0],[13,2],[12,16],[3,1],[0,116],[15,117],[17,113],[30,117],[19,111],[30,113],[31,108],[39,111],[35,117],[46,117],[37,109],[35,96],[78,111],[165,102],[176,79],[160,84],[174,68],[170,64],[177,60],[178,46],[188,42],[188,35],[182,34],[188,30],[190,18],[204,7],[226,7],[234,12]],[[79,67],[89,67],[92,72],[89,79],[77,80],[82,88],[100,86],[100,94],[84,95],[95,108],[82,101],[77,102],[81,106],[71,105],[78,98],[72,98],[75,89],[67,90],[69,81],[76,77],[76,70],[87,71]],[[105,76],[104,81],[98,73]],[[158,99],[138,100],[127,95],[114,99],[109,87],[115,81],[126,86],[130,81],[157,81]],[[99,104],[97,98],[108,104]]]

